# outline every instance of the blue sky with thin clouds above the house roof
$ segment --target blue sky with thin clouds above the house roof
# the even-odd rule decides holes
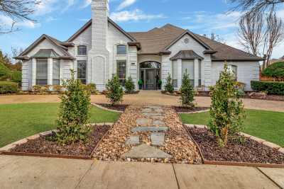
[[[36,7],[33,16],[38,22],[18,23],[21,30],[0,35],[0,49],[27,47],[43,33],[58,40],[67,40],[91,18],[92,0],[45,0]],[[217,33],[226,44],[240,47],[236,36],[241,13],[227,11],[226,0],[110,0],[110,16],[126,31],[146,31],[166,23],[189,29],[194,33]],[[284,10],[284,9],[283,9]],[[284,18],[284,11],[280,11]],[[9,18],[0,15],[0,23],[9,27]],[[283,45],[275,49],[273,57],[284,55]]]

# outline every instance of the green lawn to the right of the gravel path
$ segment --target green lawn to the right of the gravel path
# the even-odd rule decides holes
[[[181,114],[182,122],[207,125],[209,113]],[[246,110],[244,132],[284,147],[284,113]]]

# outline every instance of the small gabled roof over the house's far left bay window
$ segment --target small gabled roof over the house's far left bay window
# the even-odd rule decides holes
[[[33,44],[28,46],[28,48],[26,48],[26,50],[24,50],[21,53],[21,55],[18,55],[18,57],[14,57],[14,58],[15,59],[28,59],[27,57],[28,52],[31,52],[31,50],[33,50],[33,48],[36,45],[40,44],[40,42],[42,42],[43,40],[48,40],[50,43],[58,47],[60,52],[62,52],[63,54],[63,56],[61,56],[63,59],[74,59],[74,57],[72,57],[72,55],[70,55],[70,53],[67,52],[68,48],[64,46],[64,42],[61,42],[60,40],[56,40],[55,38],[50,37],[49,35],[46,35],[46,34],[41,35],[40,38],[38,38],[37,40],[35,40],[35,42],[33,42]]]

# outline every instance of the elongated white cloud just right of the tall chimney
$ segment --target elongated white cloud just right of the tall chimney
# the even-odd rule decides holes
[[[141,21],[141,20],[153,20],[158,18],[165,18],[163,14],[146,14],[139,9],[135,9],[133,11],[121,11],[111,13],[111,19],[117,22],[127,22],[127,21]]]

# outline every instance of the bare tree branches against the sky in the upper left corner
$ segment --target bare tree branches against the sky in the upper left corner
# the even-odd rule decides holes
[[[18,21],[33,21],[31,15],[35,12],[35,5],[38,0],[0,0],[0,13],[12,19],[11,28],[5,29],[0,25],[0,34],[11,33],[18,28],[15,27]],[[1,24],[1,23],[0,23]]]

